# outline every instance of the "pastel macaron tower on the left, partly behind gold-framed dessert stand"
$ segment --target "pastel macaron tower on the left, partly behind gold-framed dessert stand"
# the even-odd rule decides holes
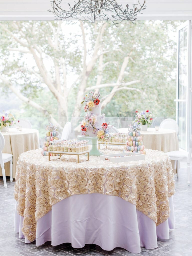
[[[53,140],[58,140],[59,137],[59,133],[57,132],[57,128],[52,124],[49,123],[49,125],[47,125],[45,127],[45,130],[47,131],[46,136],[45,136],[45,142],[44,145],[42,146],[42,150],[41,154],[43,156],[48,156],[48,150],[49,150],[49,145],[50,145],[50,141]],[[51,156],[57,156],[57,154],[50,154]]]

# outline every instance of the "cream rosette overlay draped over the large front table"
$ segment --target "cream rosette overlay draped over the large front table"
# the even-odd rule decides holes
[[[20,215],[20,223],[23,220],[23,224],[18,224],[20,227],[16,231],[20,228],[20,236],[24,235],[27,242],[37,239],[36,225],[46,216],[48,218],[54,205],[59,206],[65,200],[68,202],[68,199],[76,197],[80,199],[82,195],[91,197],[95,193],[103,194],[103,200],[107,196],[109,200],[122,200],[120,203],[126,205],[131,203],[147,219],[156,223],[156,226],[168,219],[169,197],[172,198],[175,191],[172,165],[163,152],[147,150],[145,160],[120,163],[104,162],[97,156],[91,156],[89,161],[77,164],[74,156],[66,155],[60,160],[56,156],[48,161],[48,157],[42,156],[40,151],[32,150],[21,154],[17,164],[14,196],[17,201],[16,215]],[[123,147],[113,147],[113,150],[111,147],[105,153],[122,151]],[[124,209],[120,210],[126,215]],[[70,212],[70,209],[65,208],[64,212],[66,211]],[[71,214],[72,212],[70,216]],[[131,217],[128,215],[127,218]],[[49,223],[44,223],[45,225],[49,226]],[[54,245],[56,243],[58,244],[54,242]],[[121,247],[127,249],[125,245]],[[140,243],[139,249],[132,251],[138,250]]]

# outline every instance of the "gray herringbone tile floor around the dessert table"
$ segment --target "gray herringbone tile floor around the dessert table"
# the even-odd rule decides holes
[[[170,239],[158,239],[158,247],[156,249],[147,250],[141,248],[141,253],[138,254],[130,253],[122,248],[104,251],[94,244],[86,244],[86,246],[79,249],[72,248],[69,243],[58,246],[51,246],[51,242],[46,242],[41,246],[36,246],[35,242],[25,244],[24,239],[19,239],[18,234],[14,232],[14,182],[10,183],[7,177],[7,188],[5,189],[3,179],[0,177],[0,256],[192,256],[192,166],[190,171],[190,186],[187,186],[186,164],[181,163],[179,178],[175,177],[174,208],[176,228],[170,230]]]

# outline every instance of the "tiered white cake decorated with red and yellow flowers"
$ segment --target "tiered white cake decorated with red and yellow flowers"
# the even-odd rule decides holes
[[[87,114],[84,116],[84,120],[81,122],[81,135],[89,137],[97,137],[97,132],[102,129],[102,124],[105,122],[105,115],[101,115],[101,103],[100,93],[95,94],[90,92],[83,98],[83,102],[86,102],[84,107]]]

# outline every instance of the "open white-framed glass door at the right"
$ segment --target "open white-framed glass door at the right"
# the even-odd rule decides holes
[[[191,130],[191,21],[178,28],[176,118],[179,147],[189,148]]]

